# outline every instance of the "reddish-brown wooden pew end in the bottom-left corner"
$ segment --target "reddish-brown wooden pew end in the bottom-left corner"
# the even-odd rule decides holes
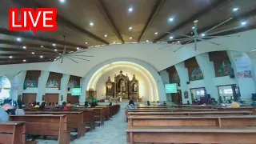
[[[24,121],[0,122],[1,144],[26,144]]]

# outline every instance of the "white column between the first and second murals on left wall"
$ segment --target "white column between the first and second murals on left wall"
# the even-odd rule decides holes
[[[49,78],[49,71],[41,71],[40,77],[38,78],[38,94],[36,101],[42,103],[42,95],[46,94],[46,82]]]

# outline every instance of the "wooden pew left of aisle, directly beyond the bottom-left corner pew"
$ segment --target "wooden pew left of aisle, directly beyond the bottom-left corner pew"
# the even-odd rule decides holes
[[[66,115],[10,115],[10,121],[25,121],[26,134],[58,136],[58,144],[70,143]]]

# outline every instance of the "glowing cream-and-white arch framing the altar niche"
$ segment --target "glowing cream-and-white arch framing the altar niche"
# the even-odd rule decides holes
[[[114,58],[98,64],[84,76],[84,80],[82,82],[82,97],[80,97],[80,102],[84,102],[86,90],[95,88],[98,79],[101,78],[102,74],[105,74],[106,71],[110,70],[114,66],[121,65],[132,66],[135,70],[140,71],[146,76],[146,78],[149,79],[151,84],[150,89],[152,90],[152,100],[166,101],[166,94],[164,91],[162,78],[153,66],[135,58]]]

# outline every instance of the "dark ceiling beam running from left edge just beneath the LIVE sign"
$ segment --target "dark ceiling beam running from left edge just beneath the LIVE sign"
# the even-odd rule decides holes
[[[12,30],[6,30],[4,28],[0,27],[0,34],[6,34],[6,35],[10,35],[10,36],[17,36],[17,37],[22,37],[22,38],[30,38],[33,40],[38,40],[38,41],[42,41],[42,42],[50,42],[50,43],[55,43],[58,45],[63,45],[63,46],[71,46],[71,47],[80,47],[82,49],[86,49],[87,46],[82,46],[82,45],[77,45],[71,42],[63,42],[63,41],[59,41],[56,39],[51,39],[51,38],[43,38],[43,37],[38,37],[36,35],[31,35],[31,34],[26,34],[23,33],[22,31],[12,31]]]

